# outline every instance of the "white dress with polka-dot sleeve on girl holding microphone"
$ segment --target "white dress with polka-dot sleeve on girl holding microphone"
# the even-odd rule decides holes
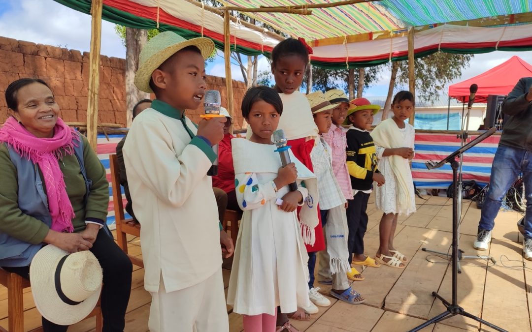
[[[235,165],[242,162],[235,150],[236,140],[243,139],[233,140]],[[265,159],[275,158],[277,169],[281,167],[278,154],[273,152],[275,145],[238,143],[240,154],[258,154],[264,164],[268,164]],[[277,198],[288,192],[288,186],[275,192],[272,181],[276,177],[277,173],[273,172],[235,174],[236,196],[244,215],[236,241],[227,303],[239,314],[274,315],[278,306],[281,312],[288,313],[296,311],[298,304],[310,305],[306,267],[309,257],[296,211],[288,213],[276,205]],[[298,191],[306,198],[307,189],[298,182]]]

